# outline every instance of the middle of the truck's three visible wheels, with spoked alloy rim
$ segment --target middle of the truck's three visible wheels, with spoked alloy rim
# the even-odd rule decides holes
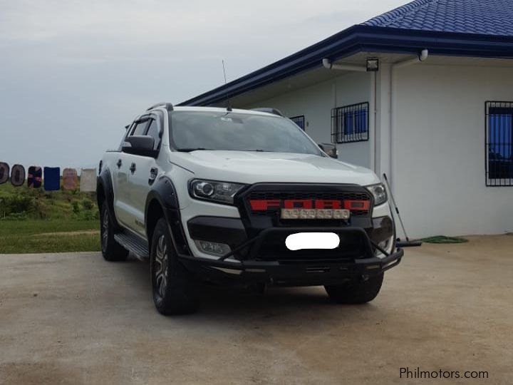
[[[178,260],[165,218],[153,230],[150,273],[153,302],[160,314],[189,314],[196,311],[195,279]]]

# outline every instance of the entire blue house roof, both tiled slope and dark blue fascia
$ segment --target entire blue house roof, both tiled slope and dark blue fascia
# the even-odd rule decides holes
[[[513,58],[513,0],[415,0],[179,104],[209,106],[358,52]]]

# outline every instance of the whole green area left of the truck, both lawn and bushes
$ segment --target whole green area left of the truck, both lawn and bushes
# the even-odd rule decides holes
[[[98,251],[99,227],[95,193],[0,185],[0,254]]]

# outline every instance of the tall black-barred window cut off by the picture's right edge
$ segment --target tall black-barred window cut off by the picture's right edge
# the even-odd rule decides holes
[[[513,186],[513,102],[486,103],[486,184]]]

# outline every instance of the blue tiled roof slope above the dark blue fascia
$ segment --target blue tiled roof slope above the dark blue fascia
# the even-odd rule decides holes
[[[363,25],[513,36],[512,0],[415,0]]]

